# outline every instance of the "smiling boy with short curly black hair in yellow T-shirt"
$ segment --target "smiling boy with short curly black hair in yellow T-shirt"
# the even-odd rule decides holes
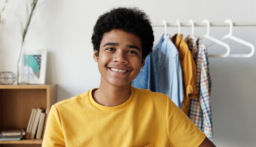
[[[131,86],[153,42],[143,11],[101,15],[92,35],[100,86],[51,107],[42,146],[214,146],[167,95]]]

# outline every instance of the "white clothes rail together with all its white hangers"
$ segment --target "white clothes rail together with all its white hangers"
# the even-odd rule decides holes
[[[215,57],[215,58],[226,58],[226,57],[238,57],[238,58],[249,58],[254,55],[255,48],[254,45],[246,42],[240,38],[232,36],[233,32],[233,26],[236,27],[250,27],[250,26],[256,26],[256,22],[232,22],[231,20],[227,19],[224,22],[212,22],[210,23],[208,20],[203,20],[202,22],[194,23],[192,20],[189,20],[189,22],[181,23],[179,20],[177,20],[175,23],[167,23],[165,20],[163,20],[162,23],[153,23],[152,27],[165,27],[165,36],[166,36],[166,28],[167,27],[178,27],[178,34],[180,34],[180,27],[192,27],[192,34],[191,36],[194,36],[194,27],[207,27],[207,34],[203,36],[203,38],[207,38],[212,41],[212,44],[219,44],[221,46],[224,46],[227,50],[225,54],[217,54],[217,55],[208,55],[208,57]],[[230,33],[223,36],[221,40],[224,40],[226,38],[232,39],[236,42],[239,42],[243,45],[246,45],[251,48],[251,52],[249,54],[230,54],[230,47],[228,44],[222,42],[221,40],[218,40],[216,38],[213,38],[209,36],[210,27],[230,27]]]

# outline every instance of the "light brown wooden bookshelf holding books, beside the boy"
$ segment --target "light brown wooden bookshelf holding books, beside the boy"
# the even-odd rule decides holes
[[[57,102],[57,85],[0,85],[0,129],[27,128],[32,108],[44,107],[49,114]],[[47,115],[46,115],[47,117]],[[0,141],[0,147],[41,146],[42,139]]]

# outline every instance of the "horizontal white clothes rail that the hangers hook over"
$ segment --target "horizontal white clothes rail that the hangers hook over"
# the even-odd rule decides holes
[[[167,27],[178,27],[178,24],[176,22],[172,23],[166,23]],[[191,23],[180,23],[181,27],[191,27]],[[224,22],[212,22],[210,23],[211,27],[229,27],[230,25],[228,23]],[[233,26],[235,27],[250,27],[250,26],[256,26],[256,22],[233,22]],[[164,27],[164,23],[152,23],[152,27]],[[207,27],[206,23],[202,22],[195,22],[194,27]]]

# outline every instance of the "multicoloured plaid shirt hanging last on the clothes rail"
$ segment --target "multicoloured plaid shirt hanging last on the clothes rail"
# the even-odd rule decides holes
[[[211,78],[207,48],[198,37],[192,39],[188,36],[186,41],[196,63],[197,89],[200,91],[199,99],[190,100],[189,118],[213,141],[210,105]]]

